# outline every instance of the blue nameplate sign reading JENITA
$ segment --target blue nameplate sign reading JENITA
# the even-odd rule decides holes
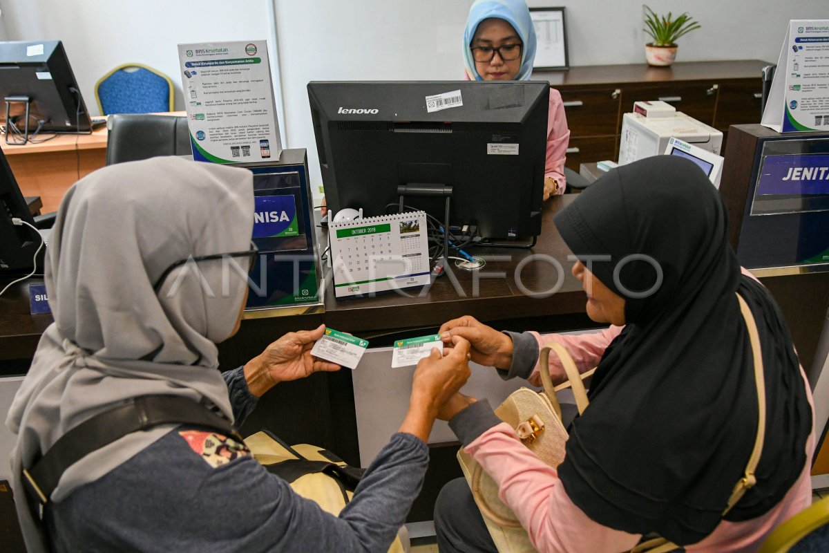
[[[829,155],[773,155],[764,158],[757,196],[829,195]]]

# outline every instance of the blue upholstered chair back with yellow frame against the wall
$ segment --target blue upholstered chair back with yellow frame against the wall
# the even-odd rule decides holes
[[[119,65],[95,83],[101,114],[149,114],[172,109],[172,81],[152,67]]]

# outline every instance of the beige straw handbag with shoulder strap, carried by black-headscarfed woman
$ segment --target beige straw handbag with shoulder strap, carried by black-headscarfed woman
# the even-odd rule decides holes
[[[723,516],[739,502],[746,490],[752,488],[757,482],[754,477],[754,470],[757,468],[760,453],[763,450],[766,421],[766,393],[759,333],[748,305],[739,294],[737,294],[737,299],[745,325],[749,331],[751,352],[754,356],[754,383],[757,388],[759,416],[754,449],[746,465],[744,477],[740,478],[734,486]],[[550,379],[548,362],[550,350],[558,354],[569,378],[569,382],[555,388],[552,386]],[[557,343],[542,349],[539,361],[544,391],[536,393],[526,388],[516,390],[495,410],[495,414],[516,429],[516,434],[527,448],[551,467],[556,467],[565,458],[567,431],[561,423],[561,409],[555,397],[555,391],[572,386],[580,415],[588,405],[587,394],[584,391],[584,384],[581,379],[593,374],[595,369],[579,376],[579,371],[576,369],[572,357],[564,347]],[[501,553],[536,551],[515,514],[498,497],[498,488],[495,481],[487,473],[484,473],[481,466],[470,455],[465,454],[463,449],[458,451],[458,461],[461,468],[463,468],[463,474],[467,478],[475,502],[481,510],[483,520],[487,524],[487,529],[492,535],[492,541],[495,542],[498,551]],[[631,553],[645,553],[646,551],[647,553],[667,553],[676,549],[679,549],[679,546],[664,538],[657,537],[643,541],[634,547]]]

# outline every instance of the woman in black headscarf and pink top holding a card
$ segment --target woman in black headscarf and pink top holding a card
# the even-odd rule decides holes
[[[648,533],[686,551],[756,551],[811,501],[811,395],[770,293],[742,274],[725,206],[693,163],[657,156],[599,179],[555,217],[578,261],[590,318],[613,327],[563,342],[586,370],[589,407],[551,468],[485,400],[455,395],[443,418],[498,483],[539,551],[627,551]],[[734,293],[754,314],[763,353],[766,429],[757,483],[725,517],[757,432],[749,335]],[[460,318],[441,327],[473,361],[530,376],[540,342]],[[441,553],[495,551],[466,483],[435,507]]]

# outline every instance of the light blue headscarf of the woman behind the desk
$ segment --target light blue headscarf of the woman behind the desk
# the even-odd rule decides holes
[[[521,69],[515,80],[530,80],[532,61],[536,59],[536,29],[532,26],[530,10],[524,0],[475,0],[469,8],[467,28],[463,32],[463,65],[470,80],[482,80],[475,69],[475,60],[469,45],[472,44],[478,25],[490,17],[509,23],[516,30],[524,46],[521,48]]]

